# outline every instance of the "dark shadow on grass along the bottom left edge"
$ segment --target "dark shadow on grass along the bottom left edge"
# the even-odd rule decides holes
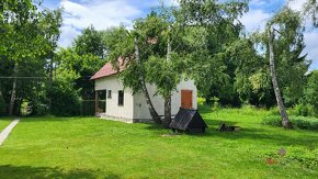
[[[0,178],[98,178],[98,171],[94,170],[69,170],[65,171],[59,168],[47,167],[30,167],[30,166],[0,166]],[[121,178],[121,176],[114,174],[107,174],[103,178]]]

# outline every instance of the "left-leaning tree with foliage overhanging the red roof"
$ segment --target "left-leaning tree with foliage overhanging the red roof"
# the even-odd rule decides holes
[[[134,29],[138,29],[139,24],[141,25],[136,22]],[[161,123],[146,86],[147,38],[140,32],[136,30],[129,32],[124,26],[110,30],[105,36],[109,60],[116,69],[120,67],[118,58],[124,60],[125,70],[121,72],[124,86],[130,88],[133,93],[141,92],[154,122]]]

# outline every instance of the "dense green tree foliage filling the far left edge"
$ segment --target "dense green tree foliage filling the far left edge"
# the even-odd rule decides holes
[[[37,8],[31,0],[1,1],[0,90],[9,114],[19,114],[24,100],[34,101],[52,77],[61,11]]]

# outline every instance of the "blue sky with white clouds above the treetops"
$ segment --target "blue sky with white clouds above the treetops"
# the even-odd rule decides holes
[[[163,0],[167,5],[178,5],[177,0]],[[294,10],[300,10],[305,0],[251,0],[249,12],[240,21],[247,33],[262,31],[266,21],[287,4]],[[64,24],[58,45],[67,47],[81,30],[93,25],[96,30],[124,24],[132,26],[133,20],[146,16],[152,8],[159,5],[158,0],[43,0],[48,9],[64,8]],[[318,69],[318,30],[306,31],[305,34],[308,59],[313,60],[310,70]]]

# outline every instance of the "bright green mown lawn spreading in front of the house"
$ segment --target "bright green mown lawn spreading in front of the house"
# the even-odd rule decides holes
[[[177,136],[93,118],[23,119],[0,146],[0,178],[318,178],[317,131],[262,126],[263,110],[202,114],[205,135]],[[219,133],[220,121],[241,131]]]

